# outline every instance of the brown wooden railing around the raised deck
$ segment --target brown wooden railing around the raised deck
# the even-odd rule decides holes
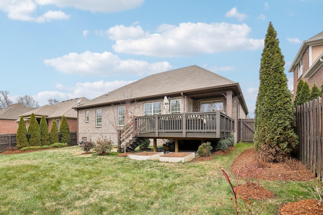
[[[157,123],[156,123],[157,122]],[[234,120],[220,110],[167,115],[139,116],[135,119],[139,133],[188,132],[216,133],[216,138],[234,131]]]

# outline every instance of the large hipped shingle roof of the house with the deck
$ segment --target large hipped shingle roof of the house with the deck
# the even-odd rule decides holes
[[[139,81],[90,100],[84,106],[119,102],[131,97],[139,99],[156,95],[170,95],[177,92],[189,92],[215,86],[234,84],[235,82],[214,74],[202,67],[192,65],[148,76]]]

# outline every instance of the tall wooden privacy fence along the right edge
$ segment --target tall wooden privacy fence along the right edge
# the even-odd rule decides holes
[[[296,133],[299,136],[298,159],[316,177],[323,176],[323,115],[322,97],[296,109]]]

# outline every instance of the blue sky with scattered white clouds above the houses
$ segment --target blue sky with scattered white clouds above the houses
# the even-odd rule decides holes
[[[322,8],[322,0],[1,0],[0,90],[42,106],[198,65],[238,82],[254,117],[268,23],[291,89],[287,70],[302,42],[323,31]]]

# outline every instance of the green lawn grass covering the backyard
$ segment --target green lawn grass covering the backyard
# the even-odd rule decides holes
[[[162,163],[82,155],[68,147],[14,155],[0,154],[0,214],[234,214],[229,171],[237,156],[253,147],[237,144],[229,155],[211,161]],[[312,198],[312,182],[261,181],[275,193],[257,201],[263,214],[280,204]],[[241,202],[241,207],[243,207]]]

